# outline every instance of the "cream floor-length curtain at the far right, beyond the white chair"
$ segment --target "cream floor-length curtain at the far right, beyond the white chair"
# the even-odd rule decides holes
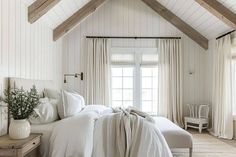
[[[233,138],[231,38],[216,41],[213,69],[213,133],[220,138]]]

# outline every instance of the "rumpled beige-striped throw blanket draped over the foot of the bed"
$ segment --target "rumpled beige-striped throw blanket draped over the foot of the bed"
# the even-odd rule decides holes
[[[172,157],[154,119],[134,108],[116,108],[97,120],[93,157]]]

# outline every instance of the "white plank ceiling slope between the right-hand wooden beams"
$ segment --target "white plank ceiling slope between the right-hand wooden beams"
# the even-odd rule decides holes
[[[232,28],[201,7],[195,0],[158,0],[162,5],[200,32],[208,39],[224,34]],[[222,0],[228,6],[236,0]]]

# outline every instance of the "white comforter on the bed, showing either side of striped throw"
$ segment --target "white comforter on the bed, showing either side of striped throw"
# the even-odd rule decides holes
[[[115,130],[111,128],[107,137],[104,137],[104,130],[109,129],[102,125],[104,117],[109,116],[112,116],[111,109],[89,106],[77,116],[61,120],[52,132],[49,156],[112,157],[109,153],[112,154],[116,148],[112,138]],[[140,137],[137,139],[141,143],[137,157],[172,157],[164,137],[154,124],[147,122],[142,125]],[[111,126],[109,123],[106,125]]]

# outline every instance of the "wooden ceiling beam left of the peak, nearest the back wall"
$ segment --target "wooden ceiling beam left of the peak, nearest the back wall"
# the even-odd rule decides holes
[[[70,18],[60,24],[53,30],[53,40],[59,39],[61,36],[70,31],[74,26],[79,24],[83,19],[92,14],[98,7],[100,7],[106,0],[91,0]]]

